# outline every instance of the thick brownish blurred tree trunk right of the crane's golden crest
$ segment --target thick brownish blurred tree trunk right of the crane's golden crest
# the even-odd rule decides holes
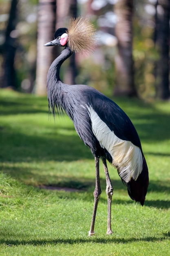
[[[114,9],[117,15],[115,35],[118,40],[117,56],[115,57],[116,86],[114,95],[137,96],[132,58],[133,0],[119,0]]]

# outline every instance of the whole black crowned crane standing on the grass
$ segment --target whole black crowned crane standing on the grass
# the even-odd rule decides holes
[[[108,198],[108,224],[106,234],[112,234],[111,201],[113,186],[110,181],[106,159],[117,168],[132,200],[144,205],[148,189],[148,167],[137,131],[119,106],[101,92],[88,85],[67,85],[60,80],[62,63],[76,52],[91,52],[95,45],[95,29],[84,18],[71,19],[67,28],[57,29],[54,40],[45,46],[64,46],[47,75],[49,110],[65,111],[73,121],[75,130],[95,157],[94,209],[89,236],[95,234],[95,216],[101,187],[99,159],[102,159],[106,175]]]

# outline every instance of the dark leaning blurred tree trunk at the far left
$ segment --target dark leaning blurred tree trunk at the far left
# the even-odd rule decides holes
[[[9,12],[9,21],[7,25],[5,42],[3,45],[3,63],[0,77],[0,87],[16,88],[16,78],[14,69],[14,58],[16,52],[16,14],[17,14],[18,0],[11,1],[11,9]]]

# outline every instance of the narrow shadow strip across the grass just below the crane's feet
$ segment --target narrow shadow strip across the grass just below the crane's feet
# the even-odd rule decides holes
[[[46,239],[46,240],[5,240],[0,239],[0,244],[5,244],[7,246],[13,245],[57,245],[57,244],[82,244],[82,243],[99,243],[99,244],[106,244],[106,243],[135,243],[135,242],[160,242],[169,240],[170,232],[167,234],[162,234],[161,237],[157,238],[156,236],[148,236],[144,238],[115,238],[114,234],[111,236],[107,236],[107,238],[97,238],[97,237],[89,237],[89,238],[76,238],[76,239]]]

